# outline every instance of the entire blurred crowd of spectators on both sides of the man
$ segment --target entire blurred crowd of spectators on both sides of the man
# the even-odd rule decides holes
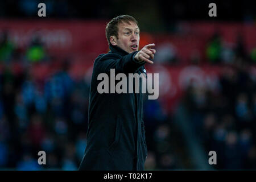
[[[168,51],[164,49],[162,57],[177,61],[174,48],[170,55],[165,55]],[[217,152],[216,169],[255,169],[256,78],[250,72],[255,49],[246,52],[241,36],[230,48],[215,34],[205,45],[205,55],[208,63],[224,67],[217,89],[192,82],[180,103],[188,110],[189,122],[205,151]],[[158,56],[156,62],[161,64]],[[10,41],[8,32],[1,34],[0,169],[79,167],[86,147],[90,81],[72,78],[71,60],[63,60],[49,77],[33,77],[31,65],[48,62],[51,55],[38,36],[20,50]],[[22,63],[22,69],[14,71],[11,63]],[[184,160],[189,159],[180,154],[185,150],[181,147],[184,141],[177,134],[174,119],[174,113],[164,113],[159,100],[144,102],[146,169],[186,168]],[[47,165],[38,164],[42,150]]]

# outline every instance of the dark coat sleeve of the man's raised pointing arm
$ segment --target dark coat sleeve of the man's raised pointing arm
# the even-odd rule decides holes
[[[117,73],[134,73],[145,64],[145,61],[138,62],[134,59],[137,52],[123,57],[115,53],[106,54],[98,60],[97,68],[101,73],[109,73],[110,69],[115,69]]]

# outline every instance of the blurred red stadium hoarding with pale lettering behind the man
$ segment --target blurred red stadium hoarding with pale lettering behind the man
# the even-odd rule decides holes
[[[56,58],[50,63],[32,64],[31,73],[36,80],[43,80],[59,70],[61,61],[72,56],[69,73],[73,78],[90,78],[93,61],[100,53],[109,51],[105,38],[106,22],[93,20],[0,20],[0,29],[8,30],[10,40],[20,51],[28,47],[35,34],[42,38],[47,52]],[[197,84],[211,85],[218,89],[218,76],[226,69],[223,65],[209,65],[204,61],[200,65],[191,65],[191,55],[198,53],[205,60],[205,45],[214,32],[220,32],[226,44],[236,44],[237,35],[242,34],[247,52],[256,47],[256,27],[244,23],[220,22],[180,22],[177,34],[141,32],[140,47],[154,42],[156,50],[163,44],[171,43],[175,47],[180,63],[177,65],[146,65],[148,73],[160,73],[159,100],[166,113],[173,111],[183,91],[191,81]],[[1,69],[3,65],[0,65]],[[21,63],[11,63],[14,72],[22,69]],[[256,76],[256,68],[251,66],[249,72]]]

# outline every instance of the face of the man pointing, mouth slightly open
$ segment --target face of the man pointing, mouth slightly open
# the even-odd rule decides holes
[[[128,53],[139,49],[139,27],[135,22],[118,24],[118,39],[116,46]]]

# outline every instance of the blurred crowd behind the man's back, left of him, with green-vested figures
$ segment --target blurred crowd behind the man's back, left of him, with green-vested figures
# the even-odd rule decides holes
[[[69,62],[43,80],[31,64],[47,61],[38,38],[22,52],[0,39],[0,168],[77,169],[86,146],[89,83],[69,75]],[[16,72],[12,63],[22,63]],[[47,167],[38,152],[46,151]]]

